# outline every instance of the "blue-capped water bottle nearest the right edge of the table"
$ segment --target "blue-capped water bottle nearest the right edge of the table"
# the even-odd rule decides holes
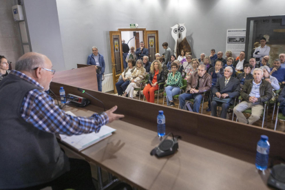
[[[255,158],[255,166],[257,169],[267,169],[269,148],[268,136],[262,135],[260,141],[257,142],[257,153]]]

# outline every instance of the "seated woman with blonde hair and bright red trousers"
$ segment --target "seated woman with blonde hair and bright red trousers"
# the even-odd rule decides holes
[[[149,72],[149,84],[143,89],[143,94],[149,103],[154,103],[154,92],[158,90],[158,84],[165,82],[165,76],[163,74],[160,61],[155,60],[151,63],[151,69]],[[160,85],[163,88],[163,85]]]

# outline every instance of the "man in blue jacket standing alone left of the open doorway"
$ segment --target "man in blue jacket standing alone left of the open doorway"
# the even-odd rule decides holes
[[[96,46],[92,47],[92,54],[89,54],[87,58],[87,65],[96,65],[96,70],[98,70],[98,67],[101,67],[101,72],[97,71],[97,83],[98,91],[102,92],[102,76],[105,72],[105,61],[103,55],[98,53]]]

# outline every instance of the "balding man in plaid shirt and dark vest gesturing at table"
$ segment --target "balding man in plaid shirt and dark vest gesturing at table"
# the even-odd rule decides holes
[[[29,52],[0,83],[0,189],[95,189],[89,163],[67,158],[54,134],[98,133],[123,115],[116,107],[74,117],[45,93],[55,70],[47,56]]]

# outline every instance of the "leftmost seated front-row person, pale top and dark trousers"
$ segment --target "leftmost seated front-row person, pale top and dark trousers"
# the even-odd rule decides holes
[[[127,89],[127,86],[129,85],[129,79],[131,78],[131,74],[134,72],[136,68],[135,65],[136,65],[136,62],[134,61],[134,59],[129,59],[127,61],[127,68],[122,73],[122,80],[116,83],[116,89],[118,92],[118,96],[122,96],[123,92],[125,92],[125,90]]]

